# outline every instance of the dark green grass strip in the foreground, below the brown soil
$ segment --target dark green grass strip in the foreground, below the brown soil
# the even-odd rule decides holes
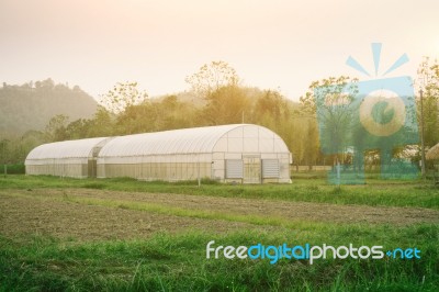
[[[0,290],[20,291],[437,291],[438,226],[370,229],[362,237],[340,227],[319,233],[241,232],[228,235],[192,232],[157,234],[148,240],[78,243],[32,236],[0,237]],[[385,237],[385,240],[378,238]],[[383,244],[406,246],[416,238],[419,260],[268,260],[206,259],[205,246]],[[432,238],[431,238],[432,237]],[[414,239],[410,239],[414,240]],[[383,243],[384,242],[384,243]]]

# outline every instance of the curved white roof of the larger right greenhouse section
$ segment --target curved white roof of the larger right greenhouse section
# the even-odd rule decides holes
[[[245,142],[255,153],[290,153],[282,138],[263,126],[232,124],[119,136],[102,147],[99,157],[243,151]]]

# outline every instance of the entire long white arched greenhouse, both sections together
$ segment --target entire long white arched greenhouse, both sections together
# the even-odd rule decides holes
[[[78,149],[81,142],[85,144],[80,150],[82,160],[67,155],[72,148]],[[35,156],[40,158],[36,155],[40,147],[46,155],[35,159]],[[69,169],[70,162],[75,162],[81,165],[82,169],[81,176],[75,177],[95,175],[98,178],[131,177],[148,181],[206,178],[236,183],[291,181],[292,158],[285,143],[274,132],[251,124],[172,130],[111,139],[71,141],[40,147],[26,159],[29,175],[63,172],[68,176],[66,169]],[[63,167],[58,167],[61,170],[50,165],[57,159],[50,157],[50,154],[56,154],[57,158],[64,157]],[[37,162],[40,168],[34,166]],[[74,172],[77,173],[68,173]]]

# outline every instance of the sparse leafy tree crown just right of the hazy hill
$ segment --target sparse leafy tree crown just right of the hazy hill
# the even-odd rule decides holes
[[[100,96],[99,103],[113,113],[121,113],[126,108],[139,104],[148,98],[146,91],[137,88],[137,82],[117,82],[113,89]]]

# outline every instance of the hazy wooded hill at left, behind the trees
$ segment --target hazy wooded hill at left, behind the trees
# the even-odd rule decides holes
[[[98,103],[78,86],[55,85],[52,79],[0,88],[0,133],[21,135],[30,130],[44,130],[57,114],[70,121],[90,117]]]

